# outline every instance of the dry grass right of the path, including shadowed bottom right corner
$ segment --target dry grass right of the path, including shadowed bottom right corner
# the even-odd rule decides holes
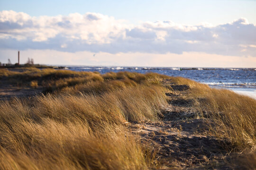
[[[230,90],[213,89],[183,77],[171,77],[169,80],[176,85],[190,86],[180,96],[180,102],[198,110],[201,114],[196,114],[196,118],[207,118],[214,122],[209,125],[206,134],[227,141],[227,151],[235,151],[230,167],[256,169],[256,100]]]

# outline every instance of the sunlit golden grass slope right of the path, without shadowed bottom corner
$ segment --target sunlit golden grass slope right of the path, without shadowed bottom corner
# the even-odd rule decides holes
[[[177,78],[177,77],[176,77]],[[213,120],[210,135],[229,139],[237,149],[256,149],[256,100],[230,90],[213,89],[208,85],[177,78],[178,84],[191,87],[183,97],[194,100],[193,107],[201,116]]]

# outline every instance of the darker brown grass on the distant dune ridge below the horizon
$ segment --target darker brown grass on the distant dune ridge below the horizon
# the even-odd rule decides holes
[[[16,70],[16,71],[15,71]],[[90,82],[108,82],[120,80],[125,84],[159,84],[163,78],[168,76],[155,73],[106,73],[100,75],[99,72],[77,72],[71,70],[55,70],[52,68],[19,68],[10,71],[0,69],[0,79],[7,78],[9,84],[19,86],[30,86],[30,82],[37,81],[38,86],[46,88],[46,92],[54,92],[65,87],[81,85]]]

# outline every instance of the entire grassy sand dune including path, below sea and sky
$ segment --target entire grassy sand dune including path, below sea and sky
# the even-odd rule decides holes
[[[255,166],[256,100],[241,92],[153,72],[0,69],[0,79],[2,169]]]

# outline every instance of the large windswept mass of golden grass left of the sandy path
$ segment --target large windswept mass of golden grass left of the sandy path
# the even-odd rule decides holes
[[[97,73],[57,82],[65,86],[58,94],[0,102],[0,169],[154,166],[152,149],[123,123],[159,119],[165,88],[127,78],[104,80]]]

